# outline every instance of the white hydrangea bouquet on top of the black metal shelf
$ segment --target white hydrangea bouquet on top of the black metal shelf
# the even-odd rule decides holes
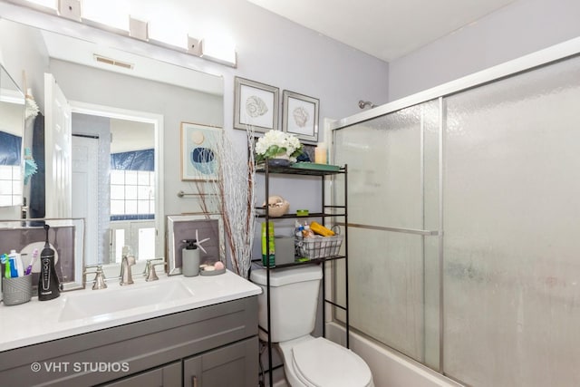
[[[267,159],[287,159],[296,162],[302,154],[302,144],[295,135],[285,131],[267,131],[256,141],[256,162]]]

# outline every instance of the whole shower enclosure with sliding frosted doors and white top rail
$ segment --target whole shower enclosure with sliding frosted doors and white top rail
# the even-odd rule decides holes
[[[579,52],[333,124],[354,330],[472,386],[580,385]]]

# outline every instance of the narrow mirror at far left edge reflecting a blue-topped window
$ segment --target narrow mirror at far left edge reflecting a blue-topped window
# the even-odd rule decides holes
[[[23,203],[24,93],[0,65],[0,207]]]

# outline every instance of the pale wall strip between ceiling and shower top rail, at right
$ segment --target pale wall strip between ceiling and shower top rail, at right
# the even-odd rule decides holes
[[[578,0],[516,0],[390,63],[389,101],[580,35]]]

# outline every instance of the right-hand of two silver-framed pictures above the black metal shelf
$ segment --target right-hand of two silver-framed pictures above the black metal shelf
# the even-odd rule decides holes
[[[318,141],[319,100],[297,92],[282,93],[282,131],[298,140]]]

